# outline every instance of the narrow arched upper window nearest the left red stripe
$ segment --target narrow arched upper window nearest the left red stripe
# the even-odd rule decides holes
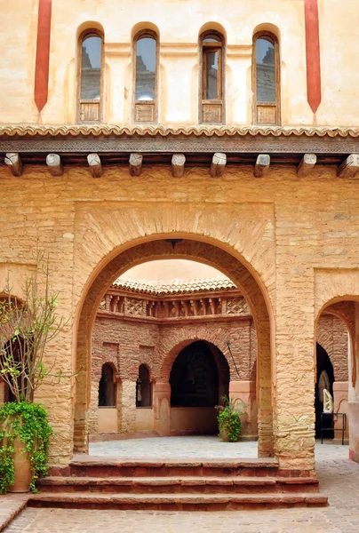
[[[78,119],[102,120],[103,36],[86,31],[79,40]]]

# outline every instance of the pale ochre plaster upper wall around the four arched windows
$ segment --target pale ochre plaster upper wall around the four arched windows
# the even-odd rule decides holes
[[[323,98],[316,115],[307,103],[304,2],[231,0],[62,0],[52,2],[49,99],[41,115],[34,104],[37,0],[0,0],[3,31],[0,67],[4,123],[75,123],[77,37],[89,27],[105,33],[104,122],[125,124],[132,116],[132,33],[146,27],[160,35],[159,123],[198,122],[198,52],[201,28],[223,28],[227,41],[227,124],[251,123],[251,43],[257,29],[272,29],[281,54],[282,122],[356,125],[353,63],[358,40],[356,0],[318,0]],[[68,16],[71,13],[71,16]],[[351,16],[348,18],[347,14]],[[16,20],[16,25],[13,24]],[[339,74],[340,73],[340,76]]]

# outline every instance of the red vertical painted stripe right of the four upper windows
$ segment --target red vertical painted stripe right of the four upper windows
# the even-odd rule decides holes
[[[322,101],[318,0],[304,0],[307,52],[307,101],[313,113]]]

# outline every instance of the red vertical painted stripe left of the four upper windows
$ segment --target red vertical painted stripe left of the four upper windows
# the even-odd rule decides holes
[[[34,99],[39,112],[44,109],[49,93],[51,25],[52,0],[39,0],[34,91]]]

